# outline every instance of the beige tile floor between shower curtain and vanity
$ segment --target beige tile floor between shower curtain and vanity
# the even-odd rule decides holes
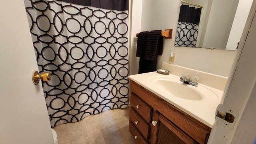
[[[126,108],[90,115],[53,129],[57,132],[58,144],[136,144],[128,124],[129,108]]]

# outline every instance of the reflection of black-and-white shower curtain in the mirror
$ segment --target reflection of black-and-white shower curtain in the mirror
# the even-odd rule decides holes
[[[180,6],[175,46],[196,47],[201,11],[202,8],[194,6]]]

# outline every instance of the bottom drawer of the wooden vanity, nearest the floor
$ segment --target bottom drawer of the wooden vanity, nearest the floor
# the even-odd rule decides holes
[[[148,142],[144,139],[140,132],[138,132],[132,122],[129,124],[129,131],[138,144],[148,144]]]

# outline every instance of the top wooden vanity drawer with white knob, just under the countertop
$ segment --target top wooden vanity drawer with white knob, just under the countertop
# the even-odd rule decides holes
[[[131,93],[131,102],[132,107],[146,120],[146,122],[150,123],[152,108],[142,101],[135,93]]]

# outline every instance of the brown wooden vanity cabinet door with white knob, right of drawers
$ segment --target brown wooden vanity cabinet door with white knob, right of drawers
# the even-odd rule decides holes
[[[150,144],[198,144],[164,116],[155,112]]]

